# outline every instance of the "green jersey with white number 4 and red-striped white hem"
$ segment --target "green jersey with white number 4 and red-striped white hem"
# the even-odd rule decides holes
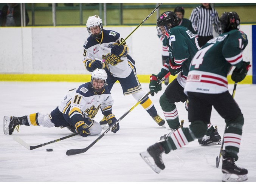
[[[242,66],[247,35],[239,30],[209,40],[191,61],[184,92],[219,94],[228,90],[227,75],[232,66]]]

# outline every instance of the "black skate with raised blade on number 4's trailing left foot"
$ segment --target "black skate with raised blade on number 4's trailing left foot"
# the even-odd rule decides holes
[[[143,160],[154,170],[156,173],[160,173],[161,170],[164,170],[165,166],[162,159],[162,153],[164,148],[161,145],[165,140],[160,140],[157,143],[149,146],[146,152],[141,152],[140,156]],[[149,158],[154,159],[154,164],[149,160]]]

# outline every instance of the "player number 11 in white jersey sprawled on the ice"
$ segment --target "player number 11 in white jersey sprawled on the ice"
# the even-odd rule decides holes
[[[23,117],[4,117],[3,130],[11,135],[20,125],[44,127],[67,127],[72,132],[82,132],[81,136],[98,135],[101,125],[94,121],[99,108],[103,110],[106,121],[111,126],[116,122],[112,114],[113,99],[106,87],[107,74],[102,69],[96,69],[91,74],[91,81],[78,88],[68,91],[68,94],[49,115],[33,113]],[[119,123],[112,127],[112,132],[119,130]]]

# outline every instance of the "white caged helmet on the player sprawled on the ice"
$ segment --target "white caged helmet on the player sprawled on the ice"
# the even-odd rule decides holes
[[[95,69],[91,74],[92,89],[98,93],[101,92],[106,86],[107,73],[104,69]]]

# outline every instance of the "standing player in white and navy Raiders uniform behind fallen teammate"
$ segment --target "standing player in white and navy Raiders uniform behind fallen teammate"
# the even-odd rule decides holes
[[[123,41],[120,34],[115,31],[105,30],[102,20],[98,15],[88,18],[87,31],[90,37],[84,43],[84,64],[85,68],[92,72],[96,68],[104,68],[107,72],[107,87],[112,89],[113,84],[119,81],[124,95],[132,94],[135,100],[145,95],[137,78],[135,61],[128,55],[129,48]],[[102,61],[105,60],[103,66]],[[106,67],[105,67],[106,66]],[[154,121],[164,127],[164,120],[160,118],[154,104],[146,97],[141,101],[141,106],[149,113]],[[103,128],[106,128],[106,116],[100,121]]]

